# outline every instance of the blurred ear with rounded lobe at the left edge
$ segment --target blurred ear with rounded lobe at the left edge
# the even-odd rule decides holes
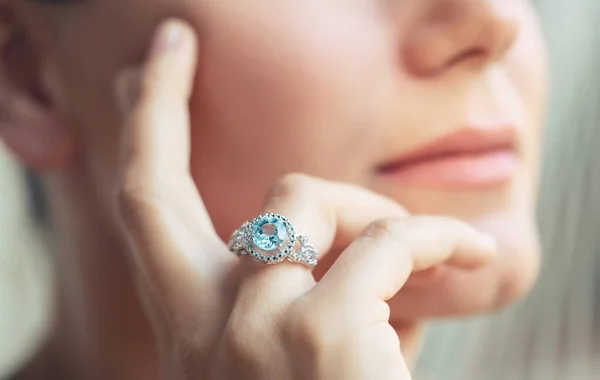
[[[0,138],[35,171],[67,166],[73,132],[46,96],[35,51],[10,3],[0,3],[0,59]]]

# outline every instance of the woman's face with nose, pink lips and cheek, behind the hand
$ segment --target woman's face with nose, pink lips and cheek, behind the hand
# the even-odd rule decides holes
[[[260,212],[272,182],[303,172],[494,235],[501,255],[473,275],[474,292],[495,291],[503,302],[533,279],[546,68],[529,1],[19,6],[50,96],[81,136],[101,204],[119,139],[113,78],[143,57],[159,20],[178,16],[200,40],[193,175],[223,237]]]

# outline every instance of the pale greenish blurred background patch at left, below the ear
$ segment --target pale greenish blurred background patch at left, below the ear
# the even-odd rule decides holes
[[[51,254],[23,170],[0,145],[0,379],[31,358],[52,313]]]

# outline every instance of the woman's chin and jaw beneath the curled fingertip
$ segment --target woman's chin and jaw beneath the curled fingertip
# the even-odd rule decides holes
[[[498,255],[485,267],[467,271],[450,266],[426,285],[410,286],[390,300],[392,319],[456,318],[496,312],[529,293],[540,263],[538,235],[533,218],[499,213],[466,220],[494,236]]]

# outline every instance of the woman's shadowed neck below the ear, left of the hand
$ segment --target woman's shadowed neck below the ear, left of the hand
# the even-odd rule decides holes
[[[52,340],[69,377],[157,379],[156,346],[136,295],[126,244],[96,192],[52,179],[59,238],[57,326]]]

